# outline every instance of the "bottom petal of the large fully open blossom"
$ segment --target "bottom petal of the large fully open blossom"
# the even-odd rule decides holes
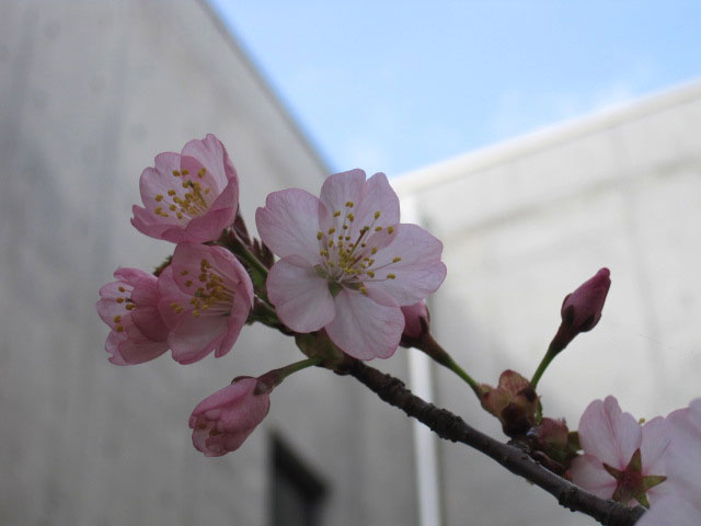
[[[354,290],[334,298],[336,317],[326,325],[329,338],[358,359],[389,358],[399,345],[404,316],[399,307],[386,307]]]

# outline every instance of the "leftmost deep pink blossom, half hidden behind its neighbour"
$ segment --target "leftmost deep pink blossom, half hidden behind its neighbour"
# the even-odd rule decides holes
[[[168,351],[168,329],[158,310],[157,278],[138,268],[119,268],[116,282],[100,289],[95,305],[100,318],[112,329],[105,350],[115,365],[157,358]]]

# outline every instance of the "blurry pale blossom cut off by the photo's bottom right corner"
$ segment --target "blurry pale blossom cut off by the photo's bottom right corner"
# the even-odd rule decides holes
[[[637,522],[640,526],[701,524],[701,398],[667,416],[667,493]]]

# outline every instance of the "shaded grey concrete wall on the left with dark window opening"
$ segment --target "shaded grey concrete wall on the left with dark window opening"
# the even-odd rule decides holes
[[[326,173],[205,4],[0,2],[0,524],[267,524],[272,433],[330,483],[324,524],[415,524],[409,421],[350,379],[300,373],[241,450],[192,447],[195,404],[299,359],[289,340],[253,327],[220,359],[107,362],[99,287],[173,248],[129,225],[138,176],[206,133],[253,230],[268,192]]]

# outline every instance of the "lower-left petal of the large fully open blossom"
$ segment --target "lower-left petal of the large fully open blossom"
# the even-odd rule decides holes
[[[297,332],[317,331],[335,316],[326,281],[300,258],[283,258],[273,265],[267,294],[283,323]]]

